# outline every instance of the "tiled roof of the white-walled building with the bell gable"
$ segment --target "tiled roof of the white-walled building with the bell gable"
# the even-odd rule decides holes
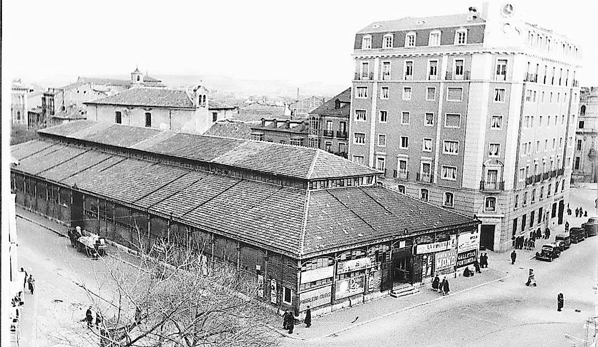
[[[166,88],[130,88],[111,96],[102,97],[87,105],[123,105],[150,106],[159,108],[187,108],[193,107],[193,102],[184,90]]]

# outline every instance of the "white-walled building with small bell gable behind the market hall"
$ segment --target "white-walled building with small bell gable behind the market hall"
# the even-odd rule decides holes
[[[84,105],[92,121],[203,134],[213,123],[207,97],[202,86],[176,90],[135,85]]]

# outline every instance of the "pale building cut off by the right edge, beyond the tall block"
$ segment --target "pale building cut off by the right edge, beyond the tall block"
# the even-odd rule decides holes
[[[573,153],[574,182],[598,182],[598,87],[581,88]]]

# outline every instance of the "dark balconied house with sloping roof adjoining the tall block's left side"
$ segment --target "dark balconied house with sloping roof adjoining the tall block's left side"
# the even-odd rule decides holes
[[[309,112],[307,145],[347,158],[351,88]]]

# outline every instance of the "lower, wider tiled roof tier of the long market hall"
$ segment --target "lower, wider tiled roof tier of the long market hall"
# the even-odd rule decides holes
[[[297,258],[476,223],[381,186],[309,192],[49,139],[11,151],[13,170]]]

